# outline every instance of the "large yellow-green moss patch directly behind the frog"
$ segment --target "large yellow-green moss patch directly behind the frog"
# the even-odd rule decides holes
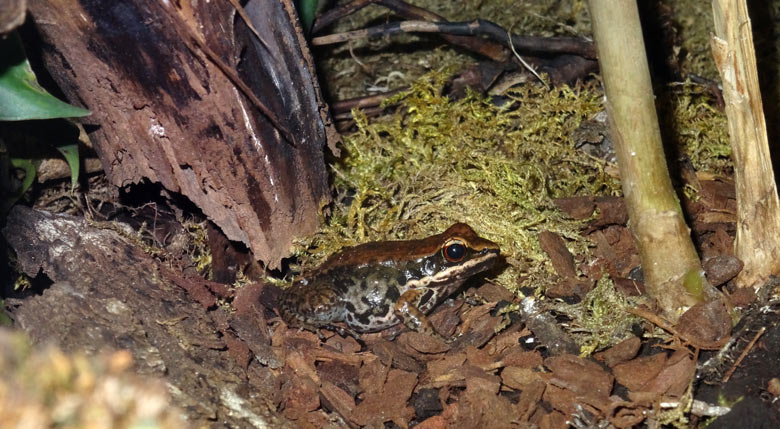
[[[508,268],[497,282],[517,290],[551,282],[552,268],[537,234],[569,240],[578,255],[587,243],[581,224],[557,211],[553,198],[617,193],[604,163],[569,141],[580,122],[601,108],[595,85],[547,90],[527,86],[502,107],[475,94],[441,95],[446,75],[431,73],[397,95],[394,115],[344,136],[344,156],[332,166],[338,198],[320,234],[300,242],[304,267],[343,246],[440,232],[456,221],[501,245]]]

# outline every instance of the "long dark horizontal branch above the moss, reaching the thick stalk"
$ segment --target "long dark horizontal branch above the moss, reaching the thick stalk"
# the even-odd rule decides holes
[[[312,39],[312,44],[329,45],[343,43],[349,40],[399,33],[441,33],[456,36],[487,36],[507,48],[514,46],[514,48],[519,51],[545,54],[575,54],[584,58],[596,58],[596,50],[593,43],[585,39],[575,37],[512,35],[510,42],[506,30],[495,23],[483,19],[464,22],[391,22],[362,30],[315,37]]]

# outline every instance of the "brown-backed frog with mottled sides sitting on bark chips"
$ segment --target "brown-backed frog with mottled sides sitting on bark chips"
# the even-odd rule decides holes
[[[465,223],[422,239],[348,247],[285,289],[280,315],[288,326],[313,332],[324,328],[360,338],[403,323],[451,342],[427,314],[499,255],[496,243]]]

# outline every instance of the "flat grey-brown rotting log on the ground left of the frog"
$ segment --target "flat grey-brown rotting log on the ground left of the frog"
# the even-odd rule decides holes
[[[256,359],[237,363],[225,350],[231,339],[218,335],[220,310],[205,311],[137,246],[81,218],[21,206],[3,234],[22,271],[54,282],[41,295],[6,300],[33,342],[129,350],[137,372],[164,378],[191,427],[289,426],[273,405],[271,370]]]

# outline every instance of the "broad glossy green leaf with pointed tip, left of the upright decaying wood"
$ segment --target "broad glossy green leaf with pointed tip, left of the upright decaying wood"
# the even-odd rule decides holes
[[[0,120],[52,119],[87,116],[91,112],[60,101],[35,79],[16,32],[0,38]]]

